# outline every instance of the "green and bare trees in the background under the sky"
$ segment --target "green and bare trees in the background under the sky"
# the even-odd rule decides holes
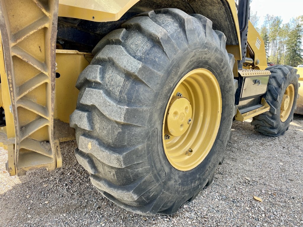
[[[303,15],[282,24],[280,16],[267,14],[261,28],[258,28],[257,12],[250,15],[250,21],[261,35],[268,62],[297,67],[303,64]]]

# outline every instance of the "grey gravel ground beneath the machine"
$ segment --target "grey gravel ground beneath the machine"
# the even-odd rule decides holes
[[[63,168],[19,178],[6,173],[2,149],[0,226],[303,226],[303,116],[280,138],[249,122],[232,129],[211,186],[172,216],[136,215],[104,198],[77,163],[75,141],[61,143]]]

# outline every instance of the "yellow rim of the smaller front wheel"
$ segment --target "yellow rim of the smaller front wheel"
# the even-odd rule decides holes
[[[295,87],[293,84],[289,84],[285,90],[285,93],[282,98],[281,102],[281,109],[280,109],[280,119],[282,122],[285,122],[290,113],[292,106],[295,100]]]

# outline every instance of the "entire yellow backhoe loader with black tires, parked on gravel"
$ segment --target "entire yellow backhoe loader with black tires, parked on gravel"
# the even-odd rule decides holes
[[[61,167],[76,139],[105,197],[168,215],[212,182],[233,120],[274,137],[293,120],[297,70],[267,67],[248,0],[0,2],[10,175]]]

